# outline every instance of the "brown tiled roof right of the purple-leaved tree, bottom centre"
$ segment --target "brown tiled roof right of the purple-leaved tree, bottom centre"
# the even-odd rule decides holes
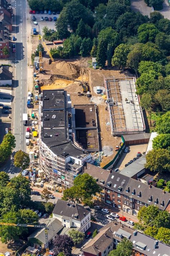
[[[113,234],[111,228],[105,228],[99,232],[83,249],[83,252],[88,252],[93,255],[98,255],[99,252],[104,252],[105,249],[112,244]]]

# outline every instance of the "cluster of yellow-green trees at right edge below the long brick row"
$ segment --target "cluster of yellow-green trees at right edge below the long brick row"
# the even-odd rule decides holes
[[[138,223],[135,228],[143,230],[146,235],[170,244],[170,215],[167,211],[161,211],[155,205],[143,206],[137,215]]]

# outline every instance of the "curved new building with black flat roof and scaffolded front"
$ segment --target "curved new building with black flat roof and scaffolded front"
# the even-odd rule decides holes
[[[64,90],[43,90],[39,108],[40,166],[51,184],[70,188],[91,154],[72,142],[70,95]]]

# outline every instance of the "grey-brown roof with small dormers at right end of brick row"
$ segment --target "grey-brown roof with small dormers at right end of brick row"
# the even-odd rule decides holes
[[[151,187],[151,188],[150,188]],[[127,189],[129,193],[126,192]],[[132,195],[132,192],[135,189],[135,194]],[[138,194],[141,192],[141,196],[138,197]],[[143,203],[147,203],[148,205],[153,205],[156,199],[158,198],[158,203],[156,204],[161,210],[164,210],[167,204],[170,201],[170,194],[168,192],[164,192],[159,188],[155,188],[154,186],[149,186],[148,184],[142,183],[141,181],[130,178],[126,187],[124,188],[123,194],[134,198]],[[152,196],[152,201],[148,202],[148,199]],[[164,201],[164,206],[161,206],[161,203]]]

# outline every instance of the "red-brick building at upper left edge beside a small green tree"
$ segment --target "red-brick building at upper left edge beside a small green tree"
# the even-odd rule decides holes
[[[0,22],[0,58],[8,58],[9,55],[4,55],[3,54],[3,48],[4,47],[8,48],[9,51],[9,30],[8,27],[5,27],[1,22]]]

